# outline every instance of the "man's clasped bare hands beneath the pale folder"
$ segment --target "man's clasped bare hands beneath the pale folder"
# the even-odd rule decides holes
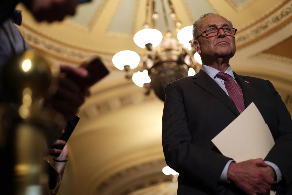
[[[267,166],[262,158],[230,163],[227,179],[246,194],[265,194],[274,183],[274,178],[260,168]]]

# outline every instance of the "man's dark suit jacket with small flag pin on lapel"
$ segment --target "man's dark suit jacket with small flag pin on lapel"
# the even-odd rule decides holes
[[[269,81],[234,76],[245,107],[254,102],[271,130],[275,145],[265,160],[279,167],[278,194],[285,194],[292,181],[291,115]],[[243,194],[233,184],[218,182],[231,158],[211,142],[239,115],[230,97],[203,70],[167,84],[165,95],[162,145],[167,165],[180,173],[178,194]]]

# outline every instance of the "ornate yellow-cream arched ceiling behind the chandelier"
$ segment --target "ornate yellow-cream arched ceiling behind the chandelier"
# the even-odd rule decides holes
[[[215,12],[238,29],[232,69],[270,80],[292,112],[292,0],[172,0],[182,27]],[[118,51],[145,54],[133,35],[145,22],[146,0],[92,0],[73,17],[48,24],[34,21],[22,5],[22,35],[37,52],[56,63],[78,65],[99,55],[111,73],[91,88],[69,139],[69,161],[60,195],[173,194],[161,147],[163,102],[113,67]],[[165,32],[161,1],[158,29]],[[168,19],[171,22],[170,18]],[[170,24],[173,30],[173,24]],[[161,191],[163,186],[168,191]]]

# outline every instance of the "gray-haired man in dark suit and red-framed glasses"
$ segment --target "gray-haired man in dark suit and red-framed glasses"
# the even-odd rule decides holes
[[[193,25],[202,70],[166,85],[162,145],[166,163],[179,172],[178,194],[286,194],[292,181],[292,121],[273,85],[232,72],[236,29],[208,13]],[[275,145],[263,160],[235,162],[211,142],[251,102],[263,115]],[[256,148],[255,148],[256,150]]]

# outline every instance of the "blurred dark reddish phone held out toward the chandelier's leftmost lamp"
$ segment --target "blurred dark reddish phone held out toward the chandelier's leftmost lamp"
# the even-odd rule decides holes
[[[93,58],[85,68],[88,70],[88,76],[83,82],[88,87],[91,87],[93,84],[109,74],[109,70],[99,57]]]

